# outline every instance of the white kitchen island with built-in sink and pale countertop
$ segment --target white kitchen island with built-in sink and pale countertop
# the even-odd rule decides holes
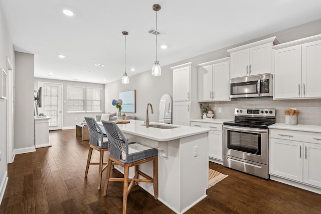
[[[156,123],[149,123],[152,124]],[[117,125],[129,142],[158,149],[159,201],[176,213],[184,213],[207,196],[210,129],[168,124],[158,125],[175,128],[146,128],[143,121],[137,120]],[[152,162],[139,168],[152,177]],[[123,172],[122,167],[117,169]],[[129,169],[129,176],[133,175],[133,169]],[[152,183],[139,183],[139,186],[153,195]]]

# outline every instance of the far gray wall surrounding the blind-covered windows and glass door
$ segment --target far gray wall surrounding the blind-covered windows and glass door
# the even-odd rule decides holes
[[[62,86],[63,93],[63,123],[62,128],[68,129],[71,127],[75,127],[76,123],[82,122],[84,117],[93,117],[95,118],[97,114],[100,113],[67,113],[67,86],[81,86],[81,87],[93,87],[93,88],[101,88],[102,89],[102,106],[101,110],[104,110],[104,84],[96,84],[96,83],[87,83],[87,82],[75,82],[75,81],[64,81],[64,80],[56,80],[56,79],[44,79],[44,78],[35,78],[34,81],[34,90],[38,90],[39,82],[50,82],[50,83],[60,83]],[[65,102],[66,101],[66,102]],[[75,120],[75,118],[77,118]]]

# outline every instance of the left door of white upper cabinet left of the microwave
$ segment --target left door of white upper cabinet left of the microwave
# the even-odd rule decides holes
[[[212,100],[212,65],[199,67],[199,101]]]

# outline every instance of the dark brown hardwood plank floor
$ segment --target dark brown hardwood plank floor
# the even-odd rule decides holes
[[[8,165],[9,180],[0,213],[121,213],[122,183],[111,182],[104,197],[97,189],[98,166],[91,165],[88,177],[84,177],[88,141],[76,137],[75,130],[63,130],[51,131],[50,142],[52,147],[16,155]],[[98,161],[98,152],[93,151],[92,158]],[[208,189],[208,196],[186,213],[321,213],[319,194],[215,163],[209,165],[229,176]],[[112,173],[122,176],[117,170]],[[173,211],[133,186],[127,213]]]

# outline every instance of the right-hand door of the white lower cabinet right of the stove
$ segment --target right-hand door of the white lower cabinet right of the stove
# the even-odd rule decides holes
[[[304,143],[303,182],[321,187],[321,144]]]

